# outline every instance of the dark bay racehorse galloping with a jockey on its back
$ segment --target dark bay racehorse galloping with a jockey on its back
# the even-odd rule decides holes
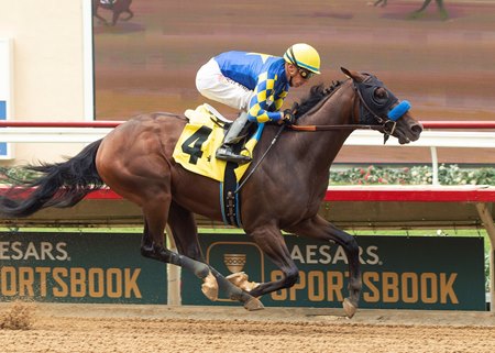
[[[342,305],[352,318],[362,289],[359,246],[352,235],[318,214],[330,166],[356,129],[377,130],[406,144],[419,139],[422,125],[408,109],[394,120],[388,117],[406,101],[399,103],[376,76],[341,69],[348,78],[327,88],[323,84],[311,87],[308,97],[296,104],[295,124],[265,124],[238,190],[242,228],[282,271],[280,279],[248,280],[250,286],[242,286],[237,282],[239,276],[226,278],[206,263],[195,213],[222,221],[220,183],[186,170],[172,157],[187,123],[179,114],[141,114],[65,162],[24,166],[36,173],[0,196],[0,213],[19,218],[46,207],[73,207],[92,190],[109,187],[143,211],[143,256],[191,271],[202,279],[201,288],[209,299],[216,300],[218,290],[224,290],[248,310],[262,309],[258,297],[298,280],[298,268],[282,231],[334,242],[349,260],[349,297]],[[166,224],[178,253],[164,244]]]

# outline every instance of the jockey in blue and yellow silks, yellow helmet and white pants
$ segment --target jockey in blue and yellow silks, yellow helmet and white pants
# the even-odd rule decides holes
[[[310,45],[290,46],[284,57],[248,52],[227,52],[211,58],[197,73],[196,87],[208,99],[241,110],[217,150],[216,157],[244,164],[250,157],[232,151],[249,122],[293,123],[289,109],[280,112],[290,87],[305,85],[320,74],[320,56]]]

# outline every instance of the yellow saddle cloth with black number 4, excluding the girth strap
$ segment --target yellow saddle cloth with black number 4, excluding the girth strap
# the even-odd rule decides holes
[[[215,153],[223,141],[223,126],[228,121],[206,103],[196,110],[186,110],[185,115],[189,122],[175,146],[175,162],[189,172],[224,181],[227,162],[217,159]],[[258,124],[254,135],[246,142],[243,154],[252,155],[263,128],[263,123]],[[237,180],[242,178],[249,165],[250,163],[246,163],[234,169]]]

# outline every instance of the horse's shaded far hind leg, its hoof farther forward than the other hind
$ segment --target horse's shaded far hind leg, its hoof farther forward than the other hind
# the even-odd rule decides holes
[[[168,227],[180,254],[206,263],[199,246],[198,231],[193,212],[172,201],[168,212]],[[209,268],[218,282],[219,289],[223,290],[230,299],[242,302],[248,310],[263,309],[263,305],[258,299],[232,285],[213,267],[209,266]]]

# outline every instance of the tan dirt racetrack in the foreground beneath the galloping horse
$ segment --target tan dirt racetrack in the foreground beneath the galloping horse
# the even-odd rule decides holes
[[[9,304],[0,305],[0,312]],[[1,352],[493,352],[495,315],[468,311],[37,304]]]

